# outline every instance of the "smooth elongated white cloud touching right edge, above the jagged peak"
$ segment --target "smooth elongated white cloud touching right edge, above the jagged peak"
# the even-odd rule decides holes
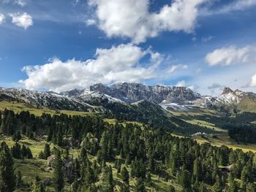
[[[229,66],[232,64],[251,64],[256,62],[256,47],[223,47],[206,55],[209,66]]]

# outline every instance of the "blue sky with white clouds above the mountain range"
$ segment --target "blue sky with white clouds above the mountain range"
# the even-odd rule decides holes
[[[0,0],[0,87],[256,93],[256,0]]]

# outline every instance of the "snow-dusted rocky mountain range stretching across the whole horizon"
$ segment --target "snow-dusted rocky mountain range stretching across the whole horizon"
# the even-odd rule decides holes
[[[135,106],[148,101],[165,110],[236,109],[255,112],[256,94],[224,88],[219,96],[206,96],[189,88],[141,83],[118,82],[113,85],[102,83],[91,85],[89,89],[54,93],[29,91],[23,88],[0,88],[0,101],[18,101],[54,110],[88,111],[105,109],[106,103]],[[108,109],[111,110],[111,109]]]

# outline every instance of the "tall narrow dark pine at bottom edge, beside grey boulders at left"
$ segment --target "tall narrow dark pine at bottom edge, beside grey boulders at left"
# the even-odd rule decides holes
[[[53,170],[53,183],[56,191],[62,191],[64,188],[64,173],[62,170],[63,161],[61,159],[61,153],[56,149],[55,151],[55,169]]]

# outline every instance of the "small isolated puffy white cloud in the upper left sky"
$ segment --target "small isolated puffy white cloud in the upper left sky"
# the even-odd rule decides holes
[[[12,23],[14,23],[16,26],[19,26],[21,28],[29,28],[30,26],[33,26],[33,18],[31,15],[24,12],[23,14],[15,13],[10,14],[12,17]]]

